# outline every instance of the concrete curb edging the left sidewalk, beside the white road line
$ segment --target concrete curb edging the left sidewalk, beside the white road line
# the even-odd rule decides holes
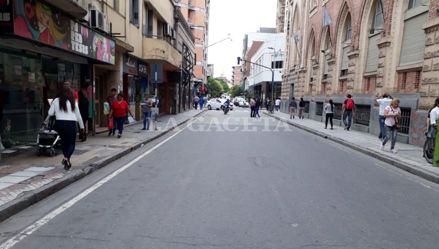
[[[198,115],[201,115],[203,112],[205,112],[205,110],[181,121],[180,123],[177,124],[177,126],[187,123],[189,120],[191,120],[192,118]],[[84,167],[82,170],[72,170],[64,177],[61,177],[60,179],[54,180],[53,182],[46,184],[41,188],[37,188],[35,190],[26,192],[24,195],[14,199],[13,201],[7,202],[6,204],[0,206],[0,222],[6,220],[7,218],[13,216],[16,213],[19,213],[20,211],[31,206],[32,204],[41,201],[47,196],[60,191],[61,189],[85,177],[86,175],[91,174],[94,171],[108,165],[109,163],[116,161],[117,159],[121,158],[124,155],[127,155],[128,153],[136,150],[137,148],[140,148],[142,144],[148,144],[149,142],[164,136],[165,134],[169,133],[171,130],[174,130],[174,127],[168,128],[162,131],[161,133],[155,135],[154,137],[150,137],[136,144],[133,144],[131,145],[130,148],[123,149],[122,151],[117,152],[114,155],[107,156],[97,162],[91,163],[90,165]]]

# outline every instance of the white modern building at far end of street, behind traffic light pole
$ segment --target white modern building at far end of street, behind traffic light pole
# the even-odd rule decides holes
[[[274,71],[274,95],[281,97],[281,81],[284,61],[285,34],[270,34],[259,47],[250,61],[266,66]],[[272,71],[262,66],[252,64],[248,76],[248,89],[255,96],[265,99],[272,93]]]

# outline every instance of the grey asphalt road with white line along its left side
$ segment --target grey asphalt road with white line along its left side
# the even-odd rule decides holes
[[[0,248],[438,248],[438,185],[248,116],[205,112],[6,220]]]

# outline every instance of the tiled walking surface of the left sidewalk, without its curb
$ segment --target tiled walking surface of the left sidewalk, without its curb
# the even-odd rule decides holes
[[[162,115],[158,118],[157,126],[159,131],[141,130],[143,122],[135,123],[124,127],[123,137],[108,136],[107,132],[87,137],[86,142],[77,142],[75,152],[72,155],[72,168],[65,171],[61,165],[63,155],[60,149],[56,150],[56,156],[46,155],[37,156],[36,148],[26,150],[20,155],[15,155],[2,159],[0,162],[0,211],[1,207],[8,202],[26,192],[36,190],[47,184],[62,180],[68,176],[84,175],[92,172],[92,166],[100,167],[98,164],[113,155],[125,155],[130,149],[145,140],[153,139],[162,134],[167,128],[171,128],[173,123],[169,123],[170,118],[175,119],[175,123],[184,122],[191,117],[198,115],[200,110],[190,110],[178,115]],[[140,145],[139,145],[140,146]],[[123,154],[121,154],[123,152]],[[106,162],[108,163],[108,162]],[[84,173],[88,168],[88,171]],[[61,179],[62,178],[62,179]],[[1,214],[0,214],[1,216]]]

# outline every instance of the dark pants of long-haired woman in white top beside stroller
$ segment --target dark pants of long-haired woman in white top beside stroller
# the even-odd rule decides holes
[[[57,120],[55,128],[61,138],[62,154],[65,158],[70,159],[75,151],[76,142],[76,121]]]

